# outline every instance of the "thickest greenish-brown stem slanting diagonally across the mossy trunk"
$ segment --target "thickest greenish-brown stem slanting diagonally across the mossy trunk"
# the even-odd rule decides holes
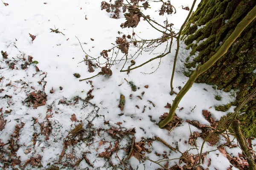
[[[243,20],[241,20],[241,22],[236,26],[233,33],[230,35],[230,37],[228,37],[228,39],[224,42],[224,44],[216,52],[216,54],[214,54],[203,65],[198,66],[196,70],[192,73],[192,75],[189,77],[189,80],[186,82],[185,86],[181,89],[181,91],[175,97],[175,100],[172,104],[172,107],[170,108],[168,116],[166,117],[166,119],[164,119],[162,122],[159,123],[160,128],[163,128],[172,120],[175,114],[175,110],[178,107],[178,104],[180,103],[180,100],[189,91],[189,89],[192,87],[193,83],[198,78],[198,76],[204,73],[205,71],[207,71],[215,62],[218,61],[218,59],[220,59],[225,53],[227,53],[227,50],[230,48],[233,42],[239,37],[242,31],[244,31],[244,28],[246,28],[255,18],[256,18],[256,6],[244,17]]]

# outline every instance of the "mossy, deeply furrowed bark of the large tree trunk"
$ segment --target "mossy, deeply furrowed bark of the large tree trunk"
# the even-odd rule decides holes
[[[204,64],[222,43],[232,34],[236,25],[256,5],[256,0],[202,0],[183,31],[182,40],[192,48],[191,56],[199,51],[192,62],[188,57],[187,68],[197,63]],[[199,29],[198,29],[199,28]],[[189,76],[191,73],[186,72]],[[256,87],[256,20],[250,23],[240,37],[233,43],[217,63],[198,77],[196,82],[217,85],[218,89],[239,90],[237,101],[216,110],[226,111],[231,105],[237,105],[250,87]],[[256,100],[248,103],[239,116],[244,136],[256,137]]]

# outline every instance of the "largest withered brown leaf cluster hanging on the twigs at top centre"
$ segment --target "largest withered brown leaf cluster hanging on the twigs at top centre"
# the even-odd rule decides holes
[[[122,28],[135,28],[140,22],[140,17],[142,17],[142,14],[140,13],[140,9],[136,6],[132,6],[128,9],[129,13],[124,14],[125,15],[125,23],[121,24]]]

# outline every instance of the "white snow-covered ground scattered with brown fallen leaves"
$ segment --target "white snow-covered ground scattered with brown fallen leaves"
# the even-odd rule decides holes
[[[160,129],[159,117],[169,112],[165,106],[168,102],[172,104],[176,96],[169,95],[175,39],[172,52],[161,61],[156,59],[127,74],[119,72],[125,63],[122,60],[111,66],[112,76],[99,75],[89,79],[91,82],[79,82],[101,71],[99,67],[94,68],[94,72],[88,71],[88,63],[83,62],[84,51],[96,58],[102,50],[113,48],[116,37],[123,34],[135,32],[134,37],[155,39],[163,33],[142,19],[137,28],[121,28],[120,24],[125,22],[123,14],[119,19],[111,18],[111,13],[101,10],[101,0],[3,2],[9,4],[0,4],[0,51],[3,56],[5,51],[8,55],[6,59],[0,57],[0,122],[2,125],[4,122],[0,131],[0,166],[5,169],[46,169],[53,165],[90,170],[163,168],[148,159],[159,160],[157,162],[166,169],[185,168],[191,162],[197,163],[203,142],[201,137],[192,140],[190,136],[202,130],[186,120],[211,126],[203,110],[209,111],[215,121],[233,112],[234,107],[220,112],[215,111],[214,106],[234,100],[234,92],[223,93],[206,84],[194,84],[176,111],[180,118],[177,126],[173,130]],[[177,13],[169,16],[154,12],[159,10],[161,3],[149,1],[149,4],[151,8],[145,15],[150,14],[151,19],[161,24],[167,18],[177,33],[189,13],[182,6],[190,8],[192,1],[173,0]],[[53,32],[56,30],[60,32]],[[35,39],[32,41],[32,38]],[[163,42],[151,54],[143,51],[134,66],[156,57],[169,41]],[[181,42],[174,79],[177,93],[178,87],[182,88],[188,79],[183,75],[183,61],[189,56],[185,48]],[[109,52],[109,57],[117,51],[115,48]],[[136,48],[131,47],[129,54],[135,52]],[[112,60],[115,56],[113,53]],[[122,57],[119,52],[116,59]],[[103,57],[99,59],[99,62],[105,61]],[[124,69],[129,65],[130,61]],[[76,78],[74,74],[81,77]],[[134,82],[137,91],[132,91],[125,79]],[[125,96],[123,110],[119,108],[121,95]],[[216,95],[222,97],[221,101],[215,99]],[[171,150],[157,137],[176,150]],[[203,153],[214,151],[204,154],[198,168],[235,170],[238,168],[234,165],[238,162],[240,167],[245,166],[236,139],[224,146],[227,152],[218,147],[226,142],[226,138],[220,136],[216,145],[205,144]],[[252,147],[256,150],[253,144],[255,140]],[[133,146],[136,149],[125,160]],[[179,159],[181,156],[183,159]],[[231,164],[232,161],[236,163]]]

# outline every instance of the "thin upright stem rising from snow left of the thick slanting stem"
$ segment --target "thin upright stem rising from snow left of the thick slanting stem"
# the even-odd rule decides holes
[[[179,49],[180,49],[180,36],[181,36],[181,32],[182,32],[184,26],[186,25],[186,22],[189,20],[189,17],[190,17],[190,15],[191,15],[192,11],[193,11],[194,6],[195,6],[195,2],[196,2],[196,0],[194,0],[194,2],[193,2],[193,4],[192,4],[192,7],[191,7],[191,9],[190,9],[190,11],[189,11],[189,14],[188,14],[188,16],[186,17],[186,20],[184,21],[184,23],[183,23],[182,26],[180,27],[179,35],[178,35],[178,37],[177,37],[177,49],[176,49],[176,53],[175,53],[175,57],[174,57],[174,61],[173,61],[172,77],[171,77],[171,83],[170,83],[170,85],[171,85],[171,93],[170,93],[170,94],[171,94],[171,95],[173,95],[173,86],[172,86],[172,84],[173,84],[173,78],[174,78],[174,73],[175,73],[175,67],[176,67],[177,56],[178,56],[178,54],[179,54]]]

